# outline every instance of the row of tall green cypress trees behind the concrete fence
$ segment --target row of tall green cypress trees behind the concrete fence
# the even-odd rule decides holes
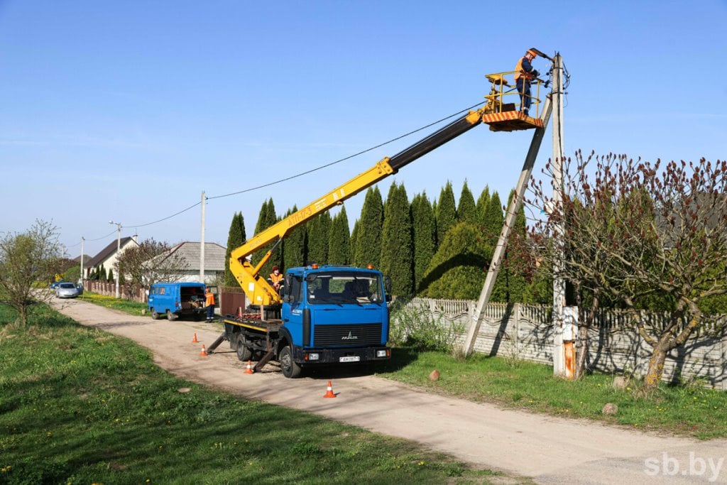
[[[284,217],[294,212],[296,207],[289,209]],[[281,218],[276,215],[270,198],[262,204],[255,233],[278,220]],[[384,201],[379,188],[374,186],[366,191],[353,231],[350,231],[345,207],[334,216],[324,212],[295,228],[276,247],[262,274],[270,273],[273,265],[284,269],[307,262],[371,264],[391,276],[393,293],[399,297],[476,299],[503,221],[499,194],[490,193],[486,187],[475,202],[466,181],[459,204],[450,182],[432,202],[426,193],[420,193],[410,203],[406,188],[397,183],[390,185]],[[538,278],[534,261],[520,250],[525,236],[526,219],[521,209],[492,301],[545,302],[550,297],[547,281]],[[231,250],[245,239],[243,216],[238,212],[230,225],[228,260]],[[260,262],[268,249],[253,254],[253,264]],[[229,270],[225,284],[236,285]]]

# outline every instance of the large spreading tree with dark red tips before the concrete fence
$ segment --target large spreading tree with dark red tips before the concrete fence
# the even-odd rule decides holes
[[[563,257],[554,276],[590,292],[591,317],[602,297],[632,311],[652,348],[646,388],[653,390],[667,353],[702,326],[702,303],[727,294],[727,162],[652,164],[578,152],[563,177],[561,204],[552,188],[531,183],[529,204],[548,213],[532,229],[534,247],[546,264]],[[667,323],[640,318],[648,307],[667,312]]]

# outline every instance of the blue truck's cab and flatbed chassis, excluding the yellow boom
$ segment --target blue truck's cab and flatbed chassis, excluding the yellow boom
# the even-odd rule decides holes
[[[370,268],[291,268],[281,305],[226,315],[222,338],[241,361],[257,361],[256,370],[276,358],[285,377],[321,364],[371,365],[391,356],[388,281]]]

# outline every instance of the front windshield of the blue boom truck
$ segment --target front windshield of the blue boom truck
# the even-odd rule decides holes
[[[308,302],[311,305],[381,303],[384,292],[381,278],[373,273],[353,271],[316,273],[308,279]]]

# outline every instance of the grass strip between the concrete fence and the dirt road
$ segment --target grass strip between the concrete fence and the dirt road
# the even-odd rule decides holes
[[[429,380],[433,369],[440,378]],[[510,358],[473,355],[465,361],[442,352],[398,348],[379,374],[425,390],[471,401],[566,417],[588,418],[635,429],[658,430],[699,439],[727,437],[727,393],[700,385],[660,385],[640,396],[640,382],[614,390],[613,376],[592,374],[578,381],[553,377],[553,367]],[[615,416],[601,414],[606,403]]]

